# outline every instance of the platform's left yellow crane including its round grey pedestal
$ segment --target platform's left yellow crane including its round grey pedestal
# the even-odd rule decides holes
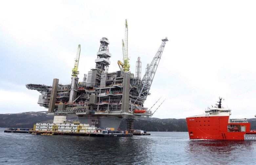
[[[73,100],[76,99],[76,93],[78,89],[78,77],[77,75],[79,74],[78,71],[78,62],[79,62],[79,57],[80,57],[80,44],[77,47],[77,52],[76,52],[76,58],[75,58],[75,65],[74,68],[72,69],[72,81],[71,81],[71,86],[70,86],[70,96],[69,96],[69,103],[73,103]]]

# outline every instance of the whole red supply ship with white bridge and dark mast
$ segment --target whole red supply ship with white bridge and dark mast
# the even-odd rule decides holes
[[[231,109],[221,106],[208,108],[201,115],[187,117],[190,139],[256,140],[256,130],[250,130],[246,119],[230,120]]]

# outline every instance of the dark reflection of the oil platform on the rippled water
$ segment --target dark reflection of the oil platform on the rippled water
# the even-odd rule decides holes
[[[53,141],[57,140],[60,144],[58,150],[63,155],[69,155],[67,163],[76,162],[78,164],[146,163],[146,159],[152,154],[150,145],[154,142],[154,140],[139,137],[67,137],[63,139],[63,136],[59,136],[57,139]],[[54,147],[54,149],[56,148]],[[57,156],[60,159],[59,155],[55,154],[55,158]],[[44,156],[49,157],[48,152],[45,152]]]

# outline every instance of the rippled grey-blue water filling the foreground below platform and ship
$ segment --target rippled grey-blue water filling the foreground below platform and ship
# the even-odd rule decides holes
[[[255,164],[256,141],[189,140],[187,132],[127,138],[4,133],[0,164]]]

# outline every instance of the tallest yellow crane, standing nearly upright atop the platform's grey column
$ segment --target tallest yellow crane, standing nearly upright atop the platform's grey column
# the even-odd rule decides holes
[[[128,72],[130,70],[129,58],[128,58],[128,24],[127,19],[125,20],[125,36],[124,41],[122,40],[122,48],[123,48],[123,63],[121,61],[117,61],[117,64],[120,70],[124,72]]]

